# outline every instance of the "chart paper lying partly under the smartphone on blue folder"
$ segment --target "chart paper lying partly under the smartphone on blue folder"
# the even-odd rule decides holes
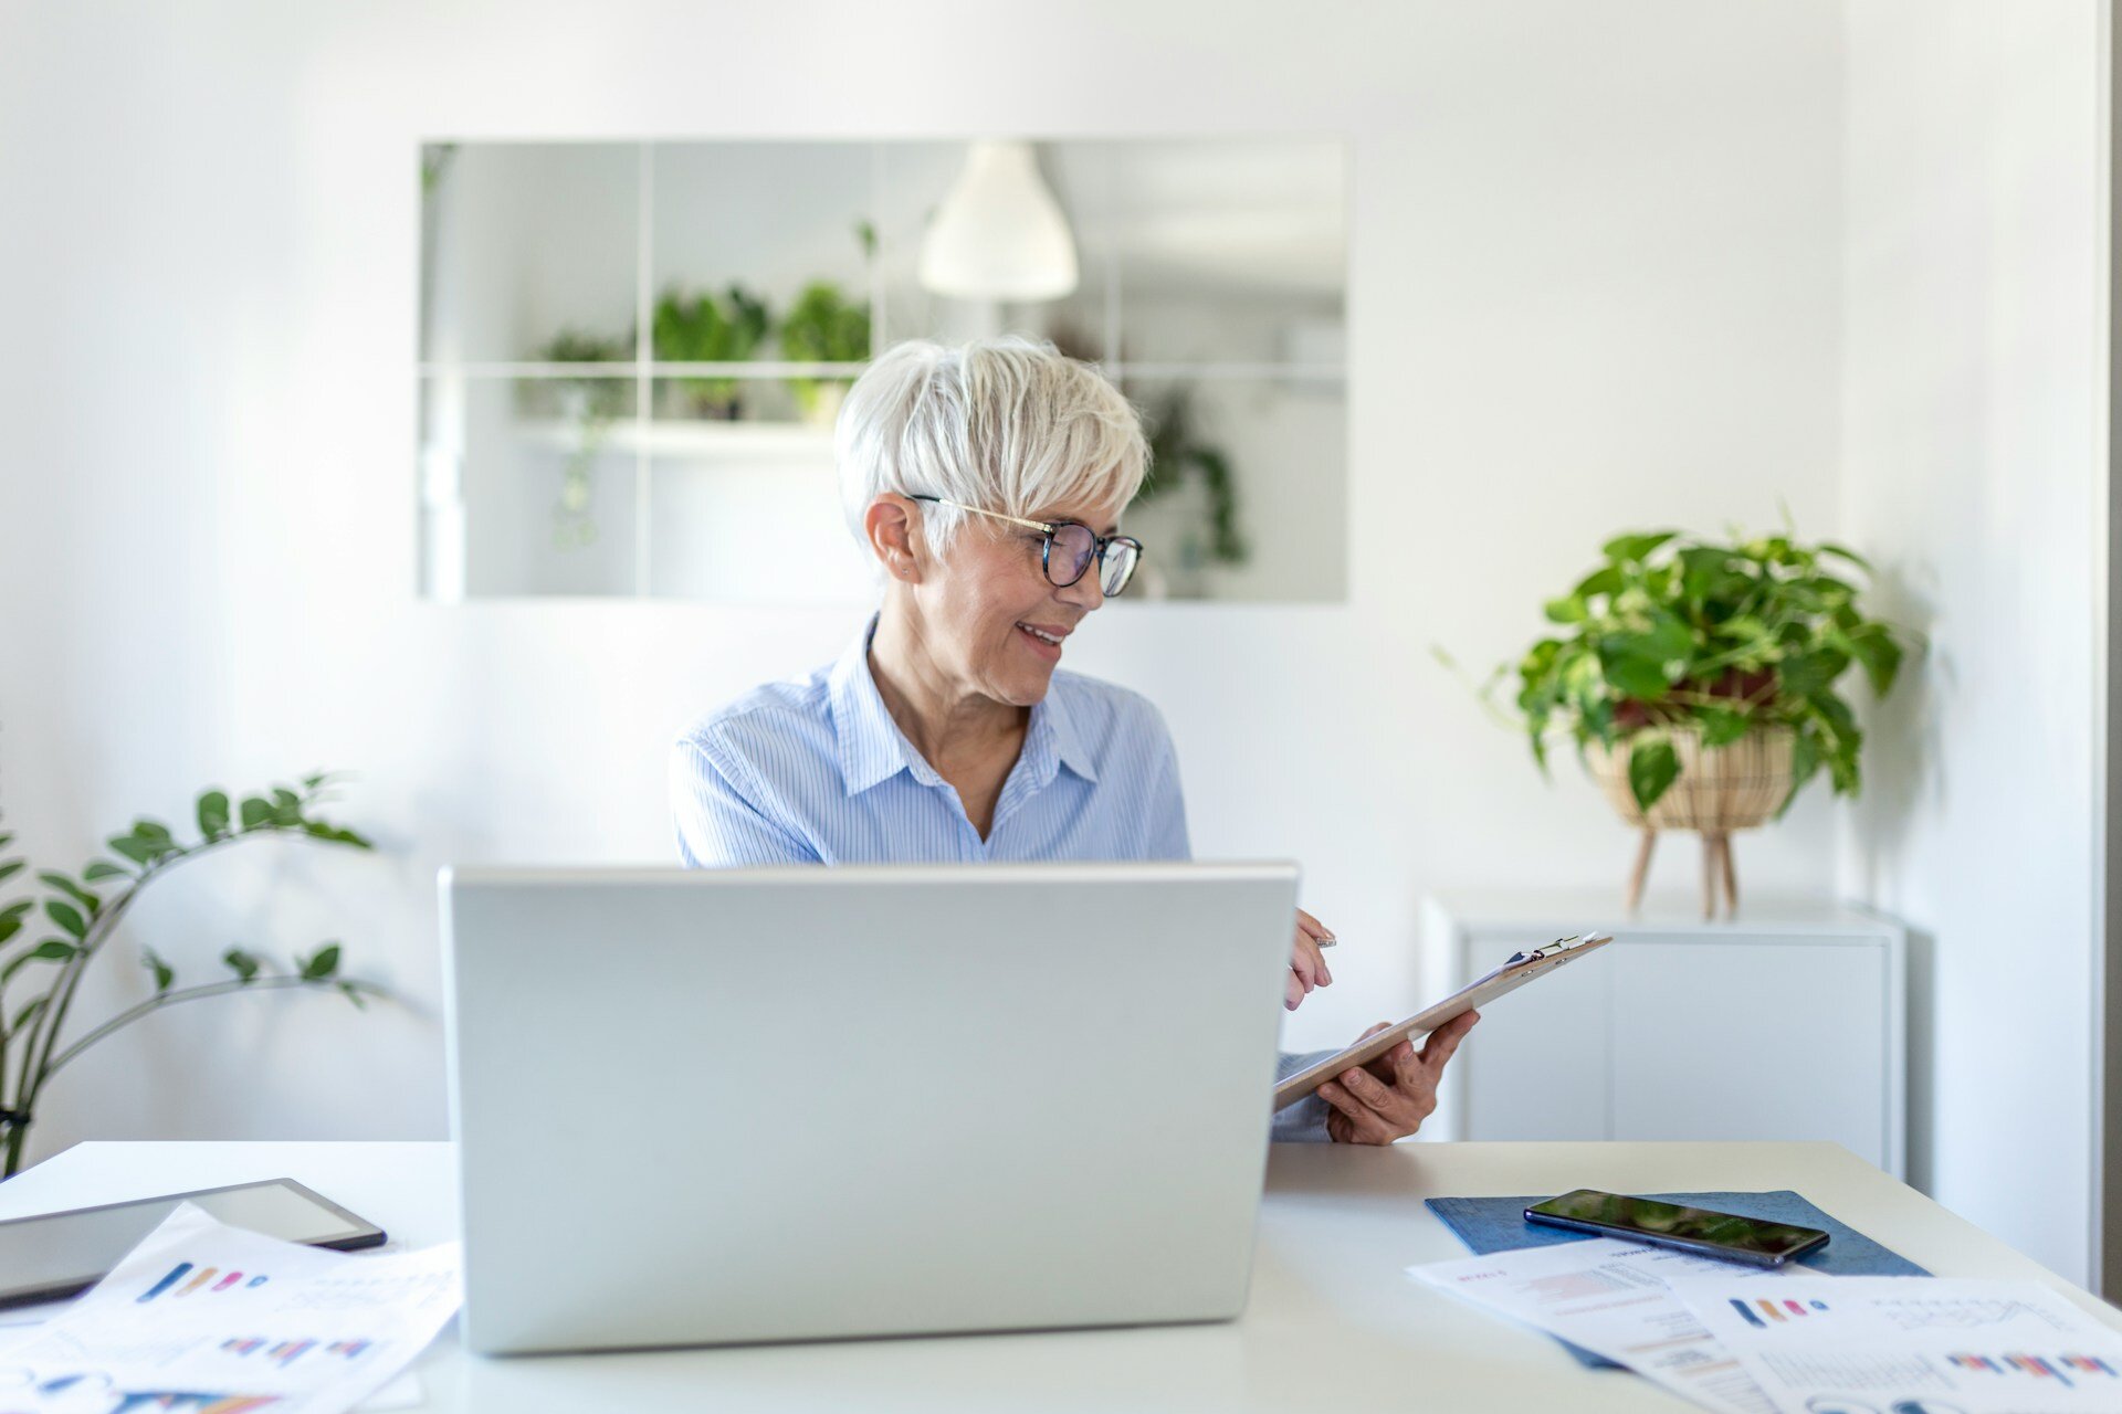
[[[1719,1276],[1734,1289],[1780,1289],[1789,1276],[1778,1270],[1734,1270],[1729,1261],[1592,1238],[1432,1261],[1407,1274],[1604,1355],[1719,1414],[1776,1414],[1666,1283]]]

